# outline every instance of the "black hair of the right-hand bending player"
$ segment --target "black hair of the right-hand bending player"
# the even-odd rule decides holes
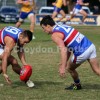
[[[40,25],[42,24],[44,26],[47,26],[47,25],[54,26],[55,22],[49,15],[47,15],[47,16],[44,16],[43,19],[41,20]]]

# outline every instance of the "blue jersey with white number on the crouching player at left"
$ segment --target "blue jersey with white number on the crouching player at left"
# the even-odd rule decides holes
[[[17,43],[19,34],[22,33],[22,29],[18,29],[16,27],[8,26],[0,30],[0,45],[4,46],[4,38],[6,36],[11,37],[15,43]]]

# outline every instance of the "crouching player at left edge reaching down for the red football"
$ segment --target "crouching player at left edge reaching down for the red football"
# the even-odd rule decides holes
[[[12,65],[13,71],[19,75],[21,71],[17,59],[11,55],[12,50],[17,46],[17,53],[23,66],[28,65],[25,60],[23,46],[31,40],[32,32],[29,30],[22,30],[12,26],[4,27],[0,30],[0,73],[3,74],[8,84],[12,82],[7,74],[7,66]],[[27,80],[25,83],[28,87],[34,86],[34,83],[30,80]]]

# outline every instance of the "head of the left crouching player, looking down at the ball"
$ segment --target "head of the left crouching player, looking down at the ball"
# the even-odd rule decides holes
[[[19,45],[24,45],[26,43],[29,43],[32,40],[32,36],[33,33],[29,30],[25,30],[23,31],[20,35],[19,35],[19,40],[18,43]]]

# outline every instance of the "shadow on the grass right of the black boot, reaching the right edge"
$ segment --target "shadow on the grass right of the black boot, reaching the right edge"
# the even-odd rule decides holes
[[[86,83],[82,85],[83,89],[100,90],[100,84]]]

